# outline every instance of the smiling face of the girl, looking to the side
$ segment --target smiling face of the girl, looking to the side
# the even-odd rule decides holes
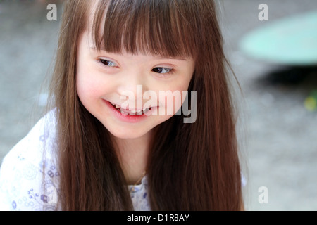
[[[77,94],[113,136],[141,137],[180,109],[194,72],[192,58],[98,51],[91,37],[84,32],[78,44]]]

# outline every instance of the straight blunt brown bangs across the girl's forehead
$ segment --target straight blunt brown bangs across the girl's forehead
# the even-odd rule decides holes
[[[99,1],[92,30],[96,49],[166,57],[197,54],[195,1]],[[104,27],[101,27],[104,25]]]

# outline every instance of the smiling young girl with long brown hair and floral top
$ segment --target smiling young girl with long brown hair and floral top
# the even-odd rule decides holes
[[[195,96],[196,119],[147,91]],[[1,209],[243,210],[213,1],[66,1],[51,97],[4,158]]]

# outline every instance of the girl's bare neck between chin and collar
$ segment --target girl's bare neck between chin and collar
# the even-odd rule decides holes
[[[151,132],[137,139],[113,138],[125,179],[128,184],[136,184],[147,169]]]

